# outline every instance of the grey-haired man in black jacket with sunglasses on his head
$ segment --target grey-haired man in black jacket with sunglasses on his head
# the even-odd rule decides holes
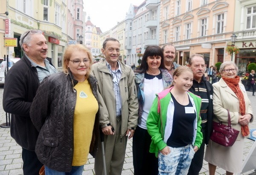
[[[38,131],[30,119],[29,110],[39,83],[57,70],[46,59],[47,40],[40,30],[23,33],[20,47],[24,55],[5,77],[3,109],[12,114],[11,136],[22,147],[23,174],[38,175],[43,164],[35,154]]]

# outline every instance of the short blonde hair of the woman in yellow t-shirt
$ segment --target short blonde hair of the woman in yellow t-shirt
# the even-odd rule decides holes
[[[90,66],[89,66],[89,70],[86,72],[85,78],[87,79],[90,75],[90,68],[92,66],[92,59],[93,59],[93,55],[90,53],[90,51],[87,49],[87,47],[85,47],[82,44],[75,44],[75,45],[69,45],[67,46],[67,49],[65,50],[64,53],[64,58],[63,58],[63,63],[62,63],[62,68],[63,68],[63,72],[64,74],[68,75],[69,74],[69,69],[67,67],[67,62],[70,61],[70,57],[72,55],[73,52],[76,51],[83,51],[86,52],[88,54],[89,60],[90,60]]]

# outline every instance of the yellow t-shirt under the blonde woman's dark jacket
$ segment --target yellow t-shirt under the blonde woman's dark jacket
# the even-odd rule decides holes
[[[90,89],[88,80],[77,83],[76,108],[74,113],[74,156],[72,166],[86,164],[92,140],[98,102]]]

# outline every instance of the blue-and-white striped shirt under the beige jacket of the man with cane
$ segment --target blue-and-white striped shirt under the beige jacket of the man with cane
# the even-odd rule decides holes
[[[122,110],[122,100],[121,100],[121,95],[120,95],[120,89],[119,89],[119,81],[122,75],[122,70],[119,62],[117,61],[118,64],[118,69],[116,70],[111,70],[110,64],[106,61],[107,67],[109,72],[111,73],[113,77],[113,88],[112,90],[115,92],[116,96],[116,117],[121,116],[121,110]]]

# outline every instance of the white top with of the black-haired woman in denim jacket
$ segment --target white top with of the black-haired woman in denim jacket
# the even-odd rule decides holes
[[[141,123],[138,124],[143,129],[147,129],[146,121],[148,119],[148,113],[152,106],[156,94],[163,91],[163,79],[159,80],[157,77],[154,77],[151,80],[144,78],[144,104],[142,111]]]

